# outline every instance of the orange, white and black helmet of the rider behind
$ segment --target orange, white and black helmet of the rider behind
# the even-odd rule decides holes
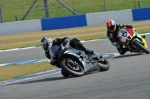
[[[114,32],[116,30],[116,23],[112,19],[107,20],[106,26],[107,26],[108,31],[110,32]]]

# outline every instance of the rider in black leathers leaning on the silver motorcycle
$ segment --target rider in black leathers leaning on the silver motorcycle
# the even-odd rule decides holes
[[[68,42],[71,47],[83,50],[88,55],[94,54],[94,51],[87,49],[77,38],[70,39],[69,37],[64,37],[64,38],[56,38],[55,40],[52,41],[50,37],[45,36],[41,39],[41,46],[45,51],[45,56],[48,59],[50,59],[51,56],[49,54],[49,48],[51,46],[54,46],[54,45],[60,46],[62,43],[67,44]],[[52,62],[50,62],[50,64],[54,65]],[[60,67],[60,66],[57,65],[57,67]]]

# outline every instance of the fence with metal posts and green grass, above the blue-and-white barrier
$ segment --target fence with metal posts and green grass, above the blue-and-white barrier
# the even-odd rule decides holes
[[[150,7],[150,0],[0,0],[0,22]]]

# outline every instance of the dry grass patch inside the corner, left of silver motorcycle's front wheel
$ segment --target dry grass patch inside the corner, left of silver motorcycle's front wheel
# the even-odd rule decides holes
[[[0,67],[0,81],[18,78],[20,76],[43,72],[56,68],[49,64],[49,62],[40,62],[25,65],[12,65],[7,67]]]

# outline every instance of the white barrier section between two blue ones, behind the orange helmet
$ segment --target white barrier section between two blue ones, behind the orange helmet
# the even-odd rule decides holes
[[[132,22],[132,11],[129,9],[86,14],[87,26],[105,24],[108,19],[116,22]]]

